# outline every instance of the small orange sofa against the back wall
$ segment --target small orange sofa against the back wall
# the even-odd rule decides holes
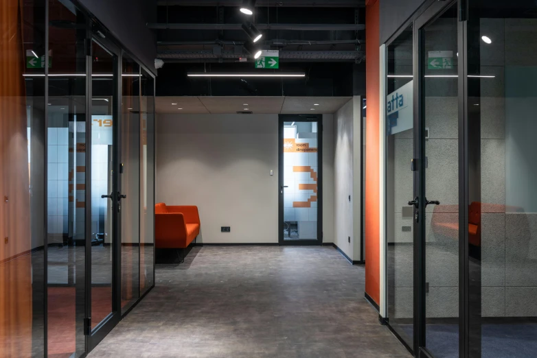
[[[156,248],[187,248],[200,233],[197,206],[155,205]]]

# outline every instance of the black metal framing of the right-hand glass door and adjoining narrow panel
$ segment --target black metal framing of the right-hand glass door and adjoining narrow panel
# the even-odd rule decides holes
[[[458,23],[457,23],[457,50],[458,56],[458,134],[459,134],[459,228],[468,227],[468,51],[465,45],[467,38],[467,0],[438,1],[428,0],[418,11],[406,21],[397,32],[395,32],[385,43],[388,47],[393,40],[396,40],[402,32],[410,25],[413,25],[413,113],[414,113],[414,139],[413,139],[413,158],[415,158],[415,171],[413,172],[414,198],[418,197],[419,208],[425,207],[425,146],[423,134],[424,128],[424,103],[422,101],[423,85],[423,63],[420,50],[422,47],[423,34],[422,29],[435,21],[444,11],[457,4]],[[385,79],[387,80],[387,79]],[[423,183],[423,184],[422,184]],[[409,198],[411,200],[411,198]],[[411,349],[398,336],[391,326],[389,326],[389,317],[385,322],[390,330],[398,336],[398,339],[407,347],[415,357],[433,357],[426,349],[426,287],[425,287],[425,211],[414,208],[414,215],[418,212],[418,222],[414,220],[414,252],[413,252],[413,347]],[[469,304],[468,304],[468,230],[459,230],[459,357],[469,357]],[[388,287],[386,287],[388,289]],[[388,297],[388,295],[387,295]],[[387,302],[386,302],[387,305]],[[387,306],[386,306],[387,307]],[[479,337],[480,338],[480,337]]]

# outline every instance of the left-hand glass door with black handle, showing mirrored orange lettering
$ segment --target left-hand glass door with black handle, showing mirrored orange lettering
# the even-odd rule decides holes
[[[101,40],[91,42],[91,240],[89,270],[89,350],[119,322],[117,305],[117,87],[119,56]]]

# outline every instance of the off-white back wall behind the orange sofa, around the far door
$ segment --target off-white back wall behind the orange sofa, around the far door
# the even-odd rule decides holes
[[[323,121],[332,126],[330,116]],[[333,152],[326,142],[323,232],[330,242]],[[278,115],[158,115],[156,145],[156,202],[198,206],[198,241],[278,242]]]

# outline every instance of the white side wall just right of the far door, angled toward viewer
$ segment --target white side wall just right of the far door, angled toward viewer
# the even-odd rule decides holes
[[[352,261],[361,254],[360,102],[354,97],[334,115],[334,243]]]

